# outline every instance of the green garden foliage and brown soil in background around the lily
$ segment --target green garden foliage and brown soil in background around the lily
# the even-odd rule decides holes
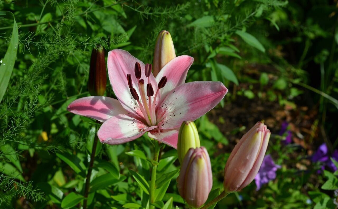
[[[66,107],[89,95],[91,51],[102,44],[106,52],[120,48],[152,63],[161,30],[170,31],[177,56],[194,57],[187,81],[221,81],[229,89],[217,108],[196,121],[212,159],[213,194],[246,130],[265,120],[272,133],[267,153],[282,166],[276,178],[258,191],[251,183],[215,208],[336,207],[337,173],[317,171],[322,165],[311,156],[322,143],[329,155],[338,146],[337,0],[0,0],[0,10],[14,14],[19,32],[0,103],[1,208],[81,206],[99,126]],[[13,38],[10,15],[0,13],[2,65]],[[115,97],[109,82],[106,95]],[[280,133],[285,122],[291,143]],[[99,144],[89,207],[144,206],[128,169],[149,180],[150,151],[145,136]],[[174,149],[163,153],[159,177],[179,166]],[[162,185],[168,187],[162,201],[173,197],[183,208],[176,177]]]

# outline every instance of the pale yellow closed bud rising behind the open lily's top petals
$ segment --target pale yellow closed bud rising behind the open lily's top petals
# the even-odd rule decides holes
[[[156,77],[163,66],[175,57],[175,48],[171,39],[171,35],[168,31],[163,30],[159,33],[156,39],[153,61],[154,76]]]

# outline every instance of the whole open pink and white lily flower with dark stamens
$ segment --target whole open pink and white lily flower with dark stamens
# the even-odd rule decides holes
[[[151,65],[129,52],[108,54],[108,75],[118,99],[88,96],[67,110],[103,122],[97,132],[101,143],[116,145],[148,136],[177,149],[183,121],[196,120],[214,108],[228,92],[221,82],[184,83],[194,58],[182,55],[168,62],[154,78]]]

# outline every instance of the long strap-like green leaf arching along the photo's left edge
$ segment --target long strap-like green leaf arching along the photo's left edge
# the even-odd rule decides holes
[[[0,103],[6,92],[9,79],[14,68],[19,42],[18,25],[17,22],[15,22],[14,14],[10,11],[0,11],[0,19],[3,18],[13,19],[13,30],[5,57],[0,63]]]

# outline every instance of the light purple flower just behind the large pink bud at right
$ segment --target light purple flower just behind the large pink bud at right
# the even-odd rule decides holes
[[[255,183],[257,186],[256,190],[259,190],[263,184],[268,183],[269,181],[276,178],[276,171],[280,169],[280,165],[276,165],[273,162],[271,155],[266,155],[263,159],[261,168],[259,169],[256,177]]]

